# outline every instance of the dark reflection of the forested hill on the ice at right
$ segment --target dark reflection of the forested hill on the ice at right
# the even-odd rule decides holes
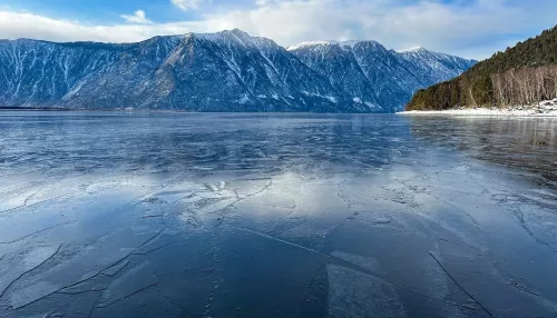
[[[526,169],[557,187],[557,119],[413,117],[418,140],[458,149],[473,158]]]

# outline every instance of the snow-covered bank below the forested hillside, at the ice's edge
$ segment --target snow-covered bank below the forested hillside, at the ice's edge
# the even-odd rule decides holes
[[[514,106],[508,108],[459,108],[448,110],[412,110],[398,115],[455,115],[455,116],[512,116],[512,117],[557,117],[557,99],[536,105]]]

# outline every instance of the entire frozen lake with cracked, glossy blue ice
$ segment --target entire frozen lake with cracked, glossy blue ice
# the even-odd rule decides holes
[[[557,119],[0,112],[0,317],[556,317]]]

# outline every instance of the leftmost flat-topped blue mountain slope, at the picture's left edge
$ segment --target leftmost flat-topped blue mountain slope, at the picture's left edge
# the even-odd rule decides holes
[[[57,102],[79,82],[108,68],[125,46],[0,41],[0,103]]]

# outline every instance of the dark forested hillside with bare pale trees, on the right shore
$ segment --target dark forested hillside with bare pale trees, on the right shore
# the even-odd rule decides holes
[[[407,110],[531,105],[557,97],[557,27],[416,92]]]

